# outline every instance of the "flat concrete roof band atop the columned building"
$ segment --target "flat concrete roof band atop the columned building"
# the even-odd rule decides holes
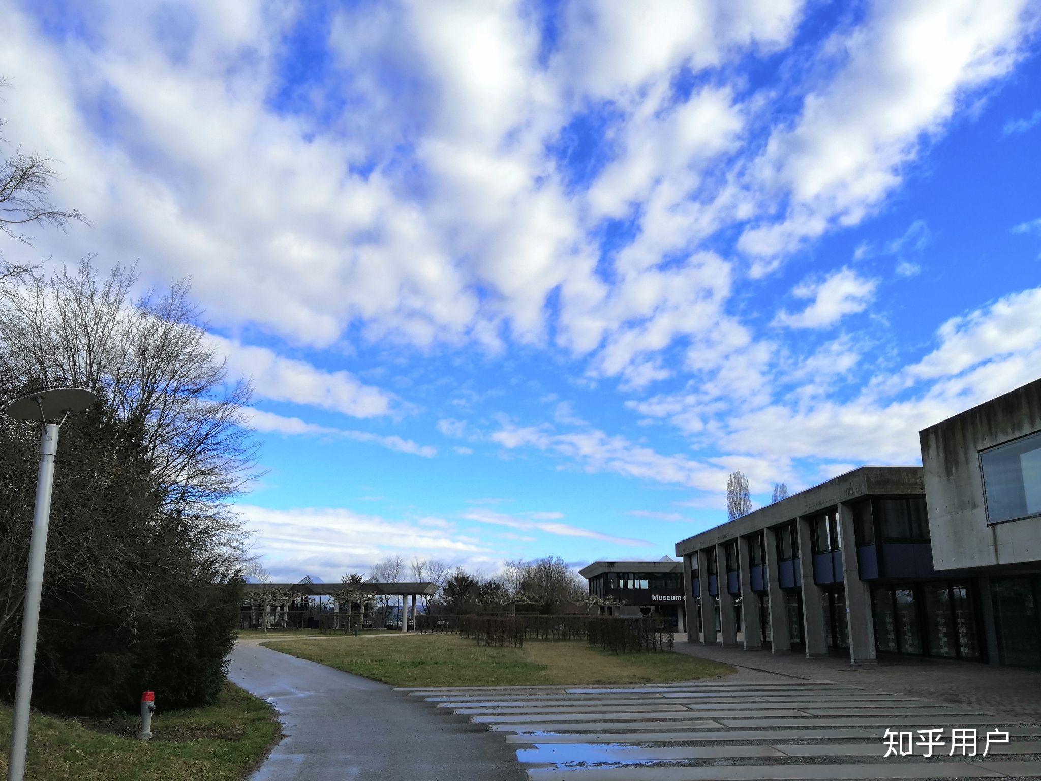
[[[683,556],[760,529],[779,526],[801,515],[812,515],[839,502],[852,502],[867,496],[915,496],[924,493],[921,467],[860,467],[687,537],[676,544],[676,555]]]

